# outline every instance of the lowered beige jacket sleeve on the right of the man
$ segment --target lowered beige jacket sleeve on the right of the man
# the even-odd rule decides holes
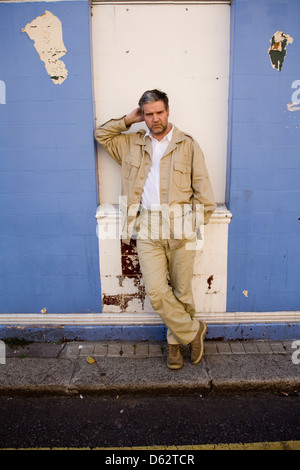
[[[209,179],[203,152],[197,142],[194,141],[194,157],[192,167],[192,187],[194,190],[193,206],[197,211],[197,205],[204,210],[204,224],[209,222],[216,209],[214,193]],[[203,217],[202,217],[203,218]]]

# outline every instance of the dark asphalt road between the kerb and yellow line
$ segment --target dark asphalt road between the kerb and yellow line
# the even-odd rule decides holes
[[[0,448],[300,440],[300,397],[0,397]]]

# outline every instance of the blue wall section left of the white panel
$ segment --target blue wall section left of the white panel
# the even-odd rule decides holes
[[[21,31],[45,10],[62,22],[61,85]],[[2,313],[101,310],[89,20],[88,1],[0,4]]]

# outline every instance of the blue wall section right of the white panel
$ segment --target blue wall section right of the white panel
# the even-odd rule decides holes
[[[227,310],[300,310],[300,110],[287,109],[300,80],[300,2],[231,8]],[[294,39],[281,71],[268,55],[276,31]]]

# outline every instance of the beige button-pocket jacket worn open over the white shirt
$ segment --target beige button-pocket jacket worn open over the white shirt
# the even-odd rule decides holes
[[[122,166],[122,195],[127,198],[128,237],[132,236],[133,221],[140,207],[143,188],[152,162],[152,142],[145,130],[128,131],[124,117],[112,119],[98,127],[95,139]],[[199,207],[204,210],[207,224],[215,210],[214,195],[205,165],[203,153],[197,142],[174,126],[172,140],[160,162],[160,202],[178,214],[178,207],[192,210],[196,230],[199,222],[195,214]],[[172,212],[172,208],[176,211]],[[200,218],[201,219],[201,218]],[[126,237],[125,237],[126,238]],[[171,239],[174,238],[172,235]],[[173,247],[180,246],[174,240]]]

